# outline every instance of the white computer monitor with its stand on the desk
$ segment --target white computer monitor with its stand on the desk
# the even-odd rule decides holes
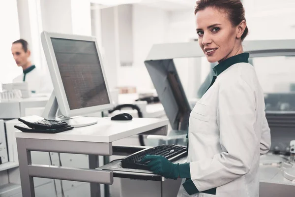
[[[94,118],[73,118],[113,107],[96,38],[44,31],[41,41],[54,86],[43,117],[74,127],[97,123]]]

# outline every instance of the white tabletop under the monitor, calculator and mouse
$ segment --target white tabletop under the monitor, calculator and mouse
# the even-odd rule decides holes
[[[16,138],[50,139],[65,141],[87,141],[109,143],[145,131],[168,125],[168,119],[133,118],[131,121],[112,121],[110,118],[96,118],[97,124],[74,128],[70,131],[50,133],[29,133],[15,131]]]

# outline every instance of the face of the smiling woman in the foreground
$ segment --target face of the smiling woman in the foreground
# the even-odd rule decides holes
[[[195,19],[198,41],[208,62],[222,62],[238,54],[241,48],[241,39],[237,39],[239,30],[233,27],[226,12],[207,7],[198,11]]]

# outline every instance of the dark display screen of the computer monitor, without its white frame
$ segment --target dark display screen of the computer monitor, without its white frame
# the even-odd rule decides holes
[[[94,41],[51,38],[70,110],[109,104]]]

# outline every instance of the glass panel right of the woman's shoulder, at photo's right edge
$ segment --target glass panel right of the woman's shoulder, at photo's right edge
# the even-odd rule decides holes
[[[265,92],[266,111],[295,111],[295,57],[250,59]]]

